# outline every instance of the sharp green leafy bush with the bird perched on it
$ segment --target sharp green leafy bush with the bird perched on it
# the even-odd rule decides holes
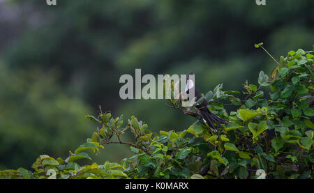
[[[255,45],[262,47],[262,44]],[[264,49],[264,47],[262,47]],[[267,52],[268,53],[268,52]],[[99,127],[91,139],[70,152],[66,160],[40,155],[34,172],[25,169],[1,171],[1,178],[313,178],[313,58],[311,52],[291,51],[271,72],[260,72],[258,84],[243,84],[244,100],[237,91],[216,86],[203,98],[209,110],[229,121],[223,130],[211,132],[200,122],[195,107],[170,107],[196,116],[197,121],[181,132],[151,132],[148,125],[131,116],[126,127],[123,116],[110,111],[87,116]],[[262,90],[269,88],[269,93]],[[237,107],[228,113],[226,105]],[[121,141],[130,131],[133,142]],[[135,153],[121,164],[105,162],[80,166],[90,159],[87,150],[98,152],[107,144],[125,144]]]

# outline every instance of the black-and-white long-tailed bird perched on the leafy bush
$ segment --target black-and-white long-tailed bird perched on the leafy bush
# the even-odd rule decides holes
[[[196,103],[197,100],[202,98],[202,93],[200,93],[200,91],[198,91],[197,88],[195,87],[193,79],[191,79],[191,75],[194,75],[194,72],[190,72],[188,74],[185,92],[188,94],[190,89],[194,87],[195,103]],[[217,128],[214,124],[216,124],[218,126],[218,128],[223,129],[221,124],[227,125],[228,122],[225,121],[223,118],[216,116],[216,114],[212,113],[211,111],[209,111],[209,109],[207,108],[207,105],[209,105],[209,102],[207,102],[207,100],[205,98],[204,98],[204,100],[202,100],[202,103],[195,104],[195,107],[197,108],[198,113],[202,117],[202,121],[204,123],[207,123],[209,125],[209,128],[213,132],[217,132]]]

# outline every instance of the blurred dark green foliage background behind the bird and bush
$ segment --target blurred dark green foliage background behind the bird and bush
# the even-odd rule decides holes
[[[257,82],[277,59],[314,43],[313,0],[0,0],[0,169],[30,169],[38,155],[68,156],[95,130],[98,105],[151,130],[184,130],[193,118],[165,100],[121,100],[119,77],[195,72],[203,93]],[[132,140],[126,136],[126,141]],[[130,156],[105,146],[96,162]]]

